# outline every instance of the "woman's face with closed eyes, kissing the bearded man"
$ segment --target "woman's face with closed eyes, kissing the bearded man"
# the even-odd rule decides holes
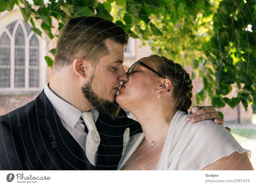
[[[156,70],[155,58],[141,58],[140,61]],[[127,82],[124,82],[119,89],[116,102],[128,111],[136,111],[142,106],[148,106],[151,99],[156,99],[156,88],[156,74],[148,68],[138,65],[135,71],[129,74]]]

